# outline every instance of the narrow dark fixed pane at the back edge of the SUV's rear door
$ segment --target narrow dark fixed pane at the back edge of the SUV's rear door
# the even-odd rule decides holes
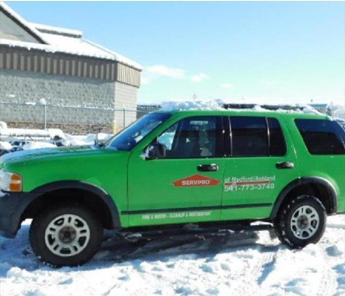
[[[286,153],[286,144],[280,124],[276,118],[267,118],[270,130],[270,154],[271,156],[283,156]]]

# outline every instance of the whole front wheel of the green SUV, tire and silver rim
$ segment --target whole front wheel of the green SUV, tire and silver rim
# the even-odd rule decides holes
[[[103,227],[81,206],[61,206],[37,216],[30,228],[30,243],[43,262],[76,266],[90,260],[99,249]]]

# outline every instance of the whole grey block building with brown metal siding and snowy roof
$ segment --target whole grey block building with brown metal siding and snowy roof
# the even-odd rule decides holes
[[[49,123],[121,128],[136,119],[141,71],[80,31],[29,23],[0,3],[0,119],[9,125],[37,121],[41,114],[32,106],[44,100],[54,106]],[[123,109],[125,120],[114,111]]]

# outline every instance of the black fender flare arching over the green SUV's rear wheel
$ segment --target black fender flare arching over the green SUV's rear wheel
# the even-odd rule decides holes
[[[278,195],[278,198],[276,199],[276,202],[273,206],[270,218],[271,219],[275,219],[276,215],[278,214],[278,210],[280,205],[282,204],[284,198],[289,194],[289,192],[296,188],[299,185],[304,185],[304,184],[319,184],[324,186],[330,196],[329,202],[330,202],[330,211],[329,214],[334,214],[337,212],[337,191],[334,188],[334,186],[332,185],[331,182],[329,182],[328,180],[321,178],[321,177],[301,177],[299,179],[296,179],[294,181],[292,181],[291,183],[289,183],[288,185],[286,185],[284,187],[284,189],[282,189]]]

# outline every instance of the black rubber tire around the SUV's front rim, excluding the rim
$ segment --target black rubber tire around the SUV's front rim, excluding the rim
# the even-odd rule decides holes
[[[46,243],[45,232],[47,226],[62,215],[75,215],[73,217],[81,218],[87,223],[89,229],[88,239],[85,240],[87,243],[84,243],[85,246],[81,247],[81,249],[83,248],[82,251],[68,257],[54,254]],[[31,224],[29,237],[35,255],[45,264],[54,267],[77,266],[89,261],[99,250],[103,239],[103,227],[100,221],[88,209],[78,205],[65,205],[47,210],[36,216]],[[63,244],[63,242],[61,243]]]

